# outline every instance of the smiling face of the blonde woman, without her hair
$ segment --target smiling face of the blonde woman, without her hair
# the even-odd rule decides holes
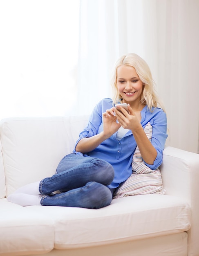
[[[116,82],[119,94],[124,103],[139,103],[142,96],[143,83],[134,67],[121,65],[116,71]]]

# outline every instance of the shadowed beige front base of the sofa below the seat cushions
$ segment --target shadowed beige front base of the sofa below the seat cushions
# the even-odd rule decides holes
[[[168,247],[169,245],[169,247]],[[44,254],[45,255],[45,254]],[[33,256],[44,256],[34,254]],[[76,249],[54,249],[48,256],[187,256],[187,233]]]

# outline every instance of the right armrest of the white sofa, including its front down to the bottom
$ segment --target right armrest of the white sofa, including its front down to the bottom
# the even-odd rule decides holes
[[[199,255],[199,155],[167,146],[160,169],[166,194],[184,198],[191,207],[188,255]]]

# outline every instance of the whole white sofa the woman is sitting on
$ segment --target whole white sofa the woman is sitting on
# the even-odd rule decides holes
[[[21,207],[6,197],[53,175],[88,117],[0,122],[0,256],[199,256],[199,155],[165,147],[165,195],[102,209]],[[183,138],[182,138],[183,139]]]

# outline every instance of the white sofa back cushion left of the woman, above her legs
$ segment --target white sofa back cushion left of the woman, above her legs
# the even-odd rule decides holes
[[[72,153],[86,123],[87,117],[3,119],[0,134],[6,196],[53,175],[60,160]]]

